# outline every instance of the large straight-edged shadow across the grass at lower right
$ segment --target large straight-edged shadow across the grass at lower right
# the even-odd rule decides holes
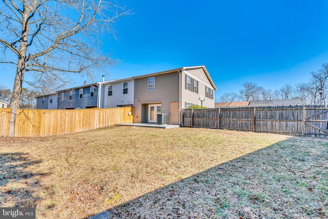
[[[111,208],[102,212],[110,217],[100,218],[327,218],[327,158],[327,141],[291,137]]]

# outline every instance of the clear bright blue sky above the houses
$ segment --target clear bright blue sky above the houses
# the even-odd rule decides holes
[[[205,65],[219,98],[244,82],[272,90],[307,82],[328,62],[328,1],[118,3],[134,14],[117,21],[118,41],[104,36],[103,52],[120,60],[106,79]],[[13,79],[6,68],[0,85],[12,89]],[[86,79],[75,77],[73,86]]]

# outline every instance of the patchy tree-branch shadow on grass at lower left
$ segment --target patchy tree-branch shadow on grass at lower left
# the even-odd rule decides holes
[[[29,166],[42,163],[28,153],[0,154],[0,207],[35,207],[39,197],[33,195],[39,186],[38,176],[47,173],[28,171]]]

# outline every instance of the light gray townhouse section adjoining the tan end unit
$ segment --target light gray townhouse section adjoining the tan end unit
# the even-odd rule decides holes
[[[100,108],[132,107],[134,102],[134,79],[132,77],[99,82],[98,103]]]

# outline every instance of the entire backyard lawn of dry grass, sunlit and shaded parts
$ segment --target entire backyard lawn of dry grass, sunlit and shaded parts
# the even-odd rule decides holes
[[[108,127],[0,138],[0,153],[0,207],[36,206],[37,218],[328,215],[326,140]]]

